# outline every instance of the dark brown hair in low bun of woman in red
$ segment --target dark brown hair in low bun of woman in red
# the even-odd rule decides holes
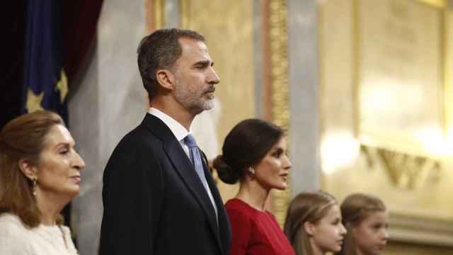
[[[258,164],[283,135],[282,128],[265,120],[242,120],[226,135],[222,155],[214,159],[219,178],[229,184],[239,181],[246,169]]]

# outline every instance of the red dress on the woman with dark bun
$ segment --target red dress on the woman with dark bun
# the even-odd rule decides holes
[[[233,232],[230,255],[294,255],[291,244],[270,212],[256,210],[237,198],[228,200],[225,208]]]

